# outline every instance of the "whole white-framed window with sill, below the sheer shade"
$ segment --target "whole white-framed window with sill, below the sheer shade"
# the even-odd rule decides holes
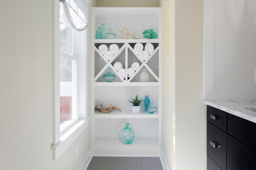
[[[64,3],[75,7],[75,10],[70,7],[73,13],[74,11],[81,13],[82,10],[76,5],[78,0],[66,0],[61,3],[63,4],[60,4],[60,0],[55,0],[53,159],[57,159],[87,127],[85,113],[86,32],[74,28],[78,20],[75,17],[78,13],[72,15],[71,20],[68,19]],[[68,11],[71,9],[68,8]],[[72,21],[74,23],[70,23]]]

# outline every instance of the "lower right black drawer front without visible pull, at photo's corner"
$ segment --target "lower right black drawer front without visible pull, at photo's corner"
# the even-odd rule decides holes
[[[228,135],[228,170],[255,170],[256,151]]]

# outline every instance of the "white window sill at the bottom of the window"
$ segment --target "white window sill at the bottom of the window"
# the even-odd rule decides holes
[[[73,126],[65,130],[60,135],[60,141],[51,147],[53,150],[53,160],[58,159],[60,155],[78,138],[79,135],[87,128],[88,118],[86,120],[78,120]]]

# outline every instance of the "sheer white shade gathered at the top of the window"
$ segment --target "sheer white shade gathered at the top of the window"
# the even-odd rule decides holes
[[[60,0],[68,23],[77,31],[85,30],[87,19],[85,13],[85,0]]]

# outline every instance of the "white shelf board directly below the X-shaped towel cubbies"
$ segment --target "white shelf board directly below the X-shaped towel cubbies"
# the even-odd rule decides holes
[[[159,86],[159,82],[94,82],[94,86]]]

